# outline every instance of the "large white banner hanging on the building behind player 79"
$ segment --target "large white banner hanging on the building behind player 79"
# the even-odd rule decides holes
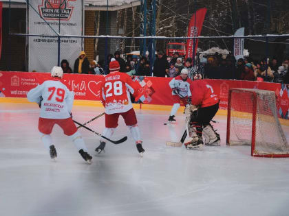
[[[29,34],[54,36],[57,35],[56,32],[69,35],[82,34],[83,0],[28,2]],[[81,52],[81,38],[61,38],[60,41],[60,60],[68,60],[69,66],[73,69],[74,61]],[[28,71],[48,72],[58,63],[58,38],[30,36],[28,53]]]

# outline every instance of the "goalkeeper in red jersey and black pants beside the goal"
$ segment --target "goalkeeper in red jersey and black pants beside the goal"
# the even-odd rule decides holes
[[[219,109],[219,99],[212,86],[205,80],[191,82],[191,101],[186,105],[185,115],[189,141],[184,144],[188,149],[202,147],[204,135],[206,145],[220,144],[220,135],[215,132],[210,121]]]

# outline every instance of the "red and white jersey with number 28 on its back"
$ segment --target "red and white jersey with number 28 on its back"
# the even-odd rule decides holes
[[[101,86],[100,99],[106,114],[127,112],[132,108],[130,94],[138,95],[140,85],[133,82],[126,73],[111,72],[105,76]]]

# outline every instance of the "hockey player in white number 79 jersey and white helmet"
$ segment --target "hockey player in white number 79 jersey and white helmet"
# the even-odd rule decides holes
[[[50,80],[32,88],[27,94],[28,100],[38,103],[41,108],[38,126],[41,141],[46,149],[50,150],[50,157],[56,158],[57,153],[50,134],[54,125],[57,124],[62,128],[64,134],[73,141],[83,159],[90,164],[92,156],[87,153],[85,142],[72,121],[71,110],[74,92],[61,82],[63,77],[61,67],[54,66],[51,76]]]

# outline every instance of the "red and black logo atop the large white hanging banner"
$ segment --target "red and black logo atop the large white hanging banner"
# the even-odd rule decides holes
[[[69,21],[74,7],[69,7],[69,1],[76,0],[42,0],[38,6],[39,14],[45,20]]]

